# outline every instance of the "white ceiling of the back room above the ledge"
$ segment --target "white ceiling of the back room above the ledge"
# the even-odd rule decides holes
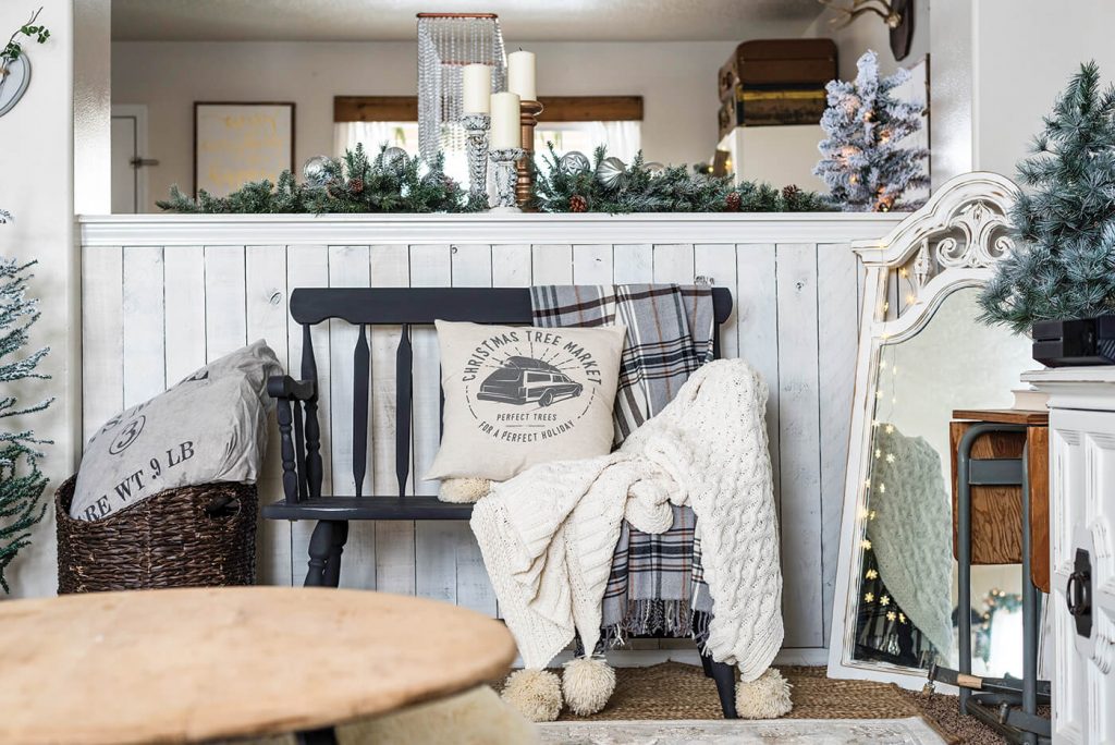
[[[518,41],[712,41],[797,37],[817,0],[113,0],[113,38],[152,41],[387,41],[415,13],[498,13]]]

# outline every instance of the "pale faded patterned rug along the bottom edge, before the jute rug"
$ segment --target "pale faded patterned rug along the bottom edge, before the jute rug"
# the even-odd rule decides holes
[[[920,717],[776,722],[554,722],[537,725],[541,743],[564,745],[938,745]]]

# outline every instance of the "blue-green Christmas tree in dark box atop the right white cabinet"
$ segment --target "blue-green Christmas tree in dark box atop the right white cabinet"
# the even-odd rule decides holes
[[[1034,321],[1115,312],[1115,87],[1080,66],[1045,118],[1029,187],[1010,211],[1015,251],[980,296],[982,320],[1029,332]]]

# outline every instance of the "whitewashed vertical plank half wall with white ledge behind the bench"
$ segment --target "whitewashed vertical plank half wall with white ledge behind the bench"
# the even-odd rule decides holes
[[[83,419],[86,437],[125,406],[258,338],[298,375],[298,287],[526,287],[692,282],[733,290],[726,356],[770,388],[767,425],[783,531],[788,649],[827,644],[857,339],[852,240],[896,215],[118,216],[81,219]],[[397,328],[371,335],[372,406],[365,493],[394,486]],[[355,330],[313,330],[324,490],[352,493]],[[437,344],[413,331],[415,473],[437,448]],[[336,416],[332,414],[336,412]],[[261,499],[279,499],[274,433]],[[409,490],[436,493],[413,477]],[[299,583],[312,525],[261,523],[260,581]],[[458,522],[353,522],[341,583],[497,612],[476,542]],[[807,656],[806,656],[807,657]]]

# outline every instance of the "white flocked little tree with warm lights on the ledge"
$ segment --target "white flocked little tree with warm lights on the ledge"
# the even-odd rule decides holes
[[[880,79],[875,52],[856,62],[852,83],[833,80],[821,126],[828,135],[817,148],[823,157],[813,170],[845,212],[913,210],[921,202],[902,202],[911,188],[929,186],[924,162],[929,151],[902,145],[921,128],[922,105],[901,101],[892,90],[910,77],[905,69]]]

